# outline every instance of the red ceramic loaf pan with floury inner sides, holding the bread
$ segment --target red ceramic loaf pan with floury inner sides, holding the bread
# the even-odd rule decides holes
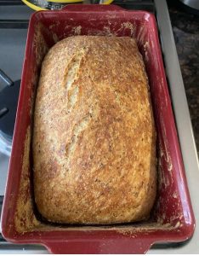
[[[35,211],[31,185],[31,125],[37,81],[48,49],[72,35],[134,37],[144,57],[156,120],[158,154],[156,204],[146,222],[110,226],[55,225],[43,223]],[[43,244],[51,253],[145,253],[154,243],[189,239],[194,227],[154,15],[114,5],[69,5],[60,11],[32,15],[3,203],[5,239]]]

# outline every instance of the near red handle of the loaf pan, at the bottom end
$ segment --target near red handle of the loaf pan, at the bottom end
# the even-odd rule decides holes
[[[73,240],[73,241],[47,241],[44,246],[49,253],[54,254],[143,254],[146,253],[154,241],[149,238],[139,239],[122,237],[122,239],[102,240]]]

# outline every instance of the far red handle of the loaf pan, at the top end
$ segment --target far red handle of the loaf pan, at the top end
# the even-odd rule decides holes
[[[110,4],[68,4],[65,7],[61,9],[61,11],[77,11],[77,12],[84,12],[84,11],[116,11],[116,10],[122,10],[126,11],[125,9],[122,9],[122,7]]]

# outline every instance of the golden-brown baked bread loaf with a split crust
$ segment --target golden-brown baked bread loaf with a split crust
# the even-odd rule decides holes
[[[45,56],[33,127],[34,195],[48,221],[149,217],[156,131],[134,38],[76,36]]]

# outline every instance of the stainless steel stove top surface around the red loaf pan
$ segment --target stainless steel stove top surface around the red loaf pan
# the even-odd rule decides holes
[[[156,15],[162,44],[162,56],[173,104],[173,113],[179,133],[179,143],[197,222],[199,221],[199,201],[194,201],[194,198],[199,194],[199,186],[197,184],[199,181],[198,160],[166,0],[115,0],[114,3],[124,9],[144,9]],[[21,3],[20,0],[3,0],[0,2],[0,69],[12,81],[18,81],[18,84],[20,83],[19,80],[25,53],[27,27],[32,13],[33,11]],[[0,76],[0,94],[3,90],[5,90],[5,79],[1,79]],[[17,91],[14,95],[17,97]],[[3,108],[4,110],[2,110]],[[8,108],[8,106],[2,106],[0,104],[0,142],[1,116],[4,115],[6,117],[6,114],[9,114]],[[1,111],[3,112],[1,113]],[[5,137],[5,134],[3,136]],[[11,146],[12,132],[11,134],[9,132],[9,143],[8,136],[6,138],[6,143],[10,143]],[[2,210],[8,166],[9,151],[3,152],[0,149],[0,212]],[[195,234],[190,241],[155,245],[149,253],[199,253],[198,236],[199,227],[196,227]],[[22,250],[25,250],[26,253],[47,253],[46,249],[40,246],[13,245],[4,241],[0,235],[0,253],[20,253]]]

